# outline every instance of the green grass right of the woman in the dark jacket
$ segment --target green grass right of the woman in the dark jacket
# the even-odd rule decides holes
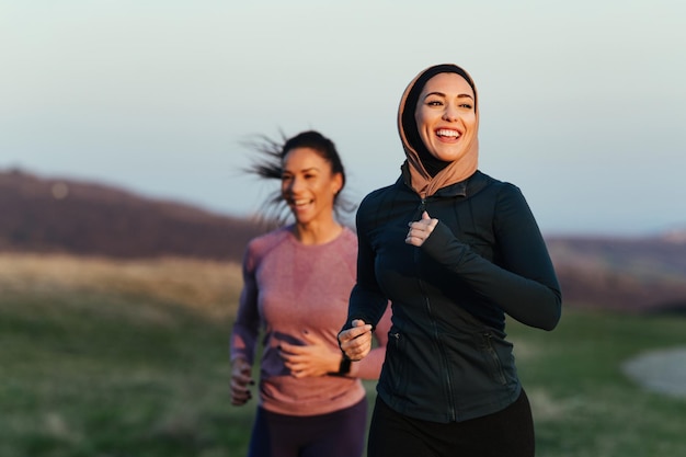
[[[685,345],[686,319],[568,311],[551,333],[511,325],[539,456],[686,455],[686,399],[644,391],[621,365]]]

